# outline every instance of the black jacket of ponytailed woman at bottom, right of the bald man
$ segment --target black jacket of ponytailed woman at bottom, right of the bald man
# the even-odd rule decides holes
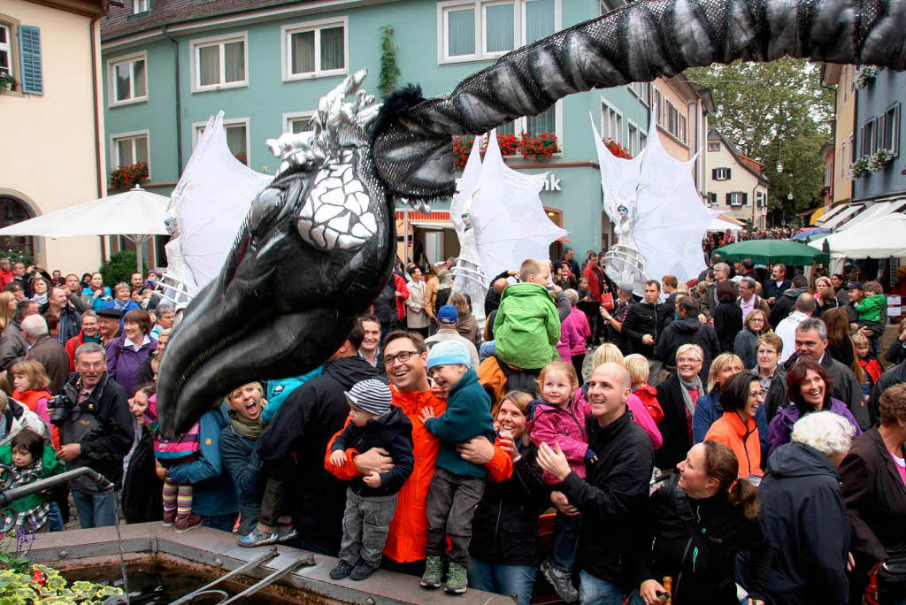
[[[738,552],[747,551],[752,561],[749,596],[764,600],[771,544],[761,523],[746,519],[728,502],[727,495],[696,500],[682,493],[679,497],[685,496],[691,514],[699,520],[696,525],[703,539],[708,541],[708,549],[699,549],[679,514],[678,490],[674,476],[651,495],[646,510],[641,511],[639,531],[633,536],[634,585],[670,576],[675,605],[738,605],[734,563]]]

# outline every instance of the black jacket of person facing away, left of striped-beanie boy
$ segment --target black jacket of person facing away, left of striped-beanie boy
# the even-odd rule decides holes
[[[323,552],[338,552],[346,484],[324,470],[324,453],[331,437],[349,416],[343,391],[361,380],[376,378],[378,370],[359,357],[344,357],[324,367],[324,373],[295,389],[258,439],[258,456],[265,465],[292,460],[289,471],[293,523],[304,543]]]

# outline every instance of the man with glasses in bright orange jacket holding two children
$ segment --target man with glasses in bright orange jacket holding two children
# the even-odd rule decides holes
[[[440,416],[447,409],[447,400],[441,399],[442,391],[432,389],[429,383],[428,348],[419,334],[391,331],[384,339],[382,355],[387,378],[390,379],[393,405],[402,408],[412,423],[415,468],[398,495],[397,514],[390,523],[381,566],[420,576],[425,568],[425,543],[428,539],[425,505],[439,449],[438,439],[429,434],[421,421],[421,411],[431,408],[435,416]],[[484,437],[475,437],[460,444],[457,449],[464,460],[487,466],[491,481],[504,481],[513,473],[513,462],[507,453],[509,448],[503,441],[500,447],[496,447]],[[368,475],[371,471],[385,473],[393,467],[392,459],[381,448],[366,452],[347,449],[346,464],[343,466],[331,465],[330,454],[329,447],[322,450],[324,465],[344,481]]]

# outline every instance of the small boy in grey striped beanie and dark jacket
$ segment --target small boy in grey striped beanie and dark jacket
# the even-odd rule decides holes
[[[397,493],[412,474],[412,423],[391,404],[390,387],[379,379],[357,382],[343,394],[349,402],[349,422],[333,441],[330,464],[343,466],[344,450],[349,448],[364,452],[383,447],[393,458],[389,471],[355,477],[346,490],[340,562],[330,575],[333,580],[347,576],[364,580],[381,562]]]

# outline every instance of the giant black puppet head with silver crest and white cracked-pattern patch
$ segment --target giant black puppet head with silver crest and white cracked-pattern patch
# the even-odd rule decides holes
[[[380,106],[360,90],[365,74],[321,100],[312,130],[267,141],[280,168],[162,360],[165,434],[184,432],[246,382],[312,370],[387,279],[394,200],[371,158],[368,124]]]

